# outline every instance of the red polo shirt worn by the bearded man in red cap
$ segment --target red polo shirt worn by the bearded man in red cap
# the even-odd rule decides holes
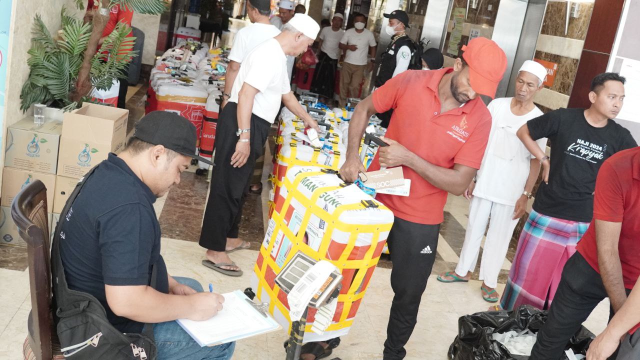
[[[460,108],[440,113],[438,85],[442,70],[410,70],[390,79],[373,93],[376,111],[394,109],[387,138],[396,140],[433,165],[453,168],[454,164],[480,168],[491,130],[491,114],[477,97]],[[378,156],[369,170],[378,170]],[[418,224],[440,224],[447,192],[436,188],[411,168],[403,167],[411,180],[408,197],[378,194],[396,217]]]

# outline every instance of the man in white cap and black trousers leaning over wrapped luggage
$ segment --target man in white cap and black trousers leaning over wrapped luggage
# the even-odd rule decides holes
[[[243,274],[226,252],[227,241],[238,237],[241,200],[248,192],[255,160],[262,154],[280,102],[306,126],[319,131],[291,92],[286,58],[307,51],[319,31],[314,19],[299,13],[282,27],[282,33],[255,47],[244,58],[229,102],[220,113],[200,246],[207,249],[207,259],[202,264],[222,274]]]

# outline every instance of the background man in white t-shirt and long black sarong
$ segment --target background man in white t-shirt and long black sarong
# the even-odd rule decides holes
[[[340,53],[342,53],[338,46],[342,36],[344,36],[342,20],[344,20],[342,14],[335,13],[331,26],[327,26],[320,31],[318,63],[314,71],[314,78],[311,81],[311,92],[323,95],[329,101],[333,99],[335,70],[338,67]]]

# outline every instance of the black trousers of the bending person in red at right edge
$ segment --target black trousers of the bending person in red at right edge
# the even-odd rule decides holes
[[[627,295],[631,290],[627,290]],[[538,340],[529,360],[556,360],[564,355],[564,348],[591,311],[607,295],[602,277],[579,252],[564,265],[556,296],[548,312],[547,322],[538,332]],[[613,317],[610,309],[609,320]],[[617,354],[609,357],[615,359]]]

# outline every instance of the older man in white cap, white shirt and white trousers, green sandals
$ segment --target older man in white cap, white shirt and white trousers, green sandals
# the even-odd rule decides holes
[[[540,63],[525,61],[516,78],[515,97],[495,99],[487,106],[492,115],[492,129],[480,170],[465,192],[471,202],[460,262],[455,272],[438,276],[441,282],[467,282],[471,278],[491,218],[480,264],[480,279],[484,281],[481,291],[487,302],[500,299],[495,291],[500,268],[540,173],[540,161],[531,155],[516,132],[528,120],[542,115],[533,97],[542,88],[546,75],[547,70]],[[538,140],[538,146],[544,151],[547,139]]]

